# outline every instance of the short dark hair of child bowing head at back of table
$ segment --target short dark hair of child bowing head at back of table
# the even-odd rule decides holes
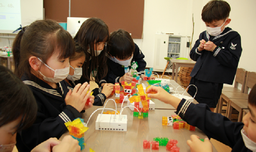
[[[112,32],[107,43],[107,51],[110,55],[118,59],[128,59],[135,51],[135,45],[131,35],[122,29]]]

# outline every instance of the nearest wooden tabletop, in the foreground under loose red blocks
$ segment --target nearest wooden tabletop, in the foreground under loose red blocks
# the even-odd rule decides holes
[[[87,122],[92,112],[98,108],[102,108],[102,106],[93,106],[87,109],[83,114],[84,121]],[[118,111],[120,111],[120,108]],[[96,152],[165,152],[166,146],[159,146],[159,150],[143,149],[144,139],[152,141],[156,137],[176,139],[178,140],[177,147],[180,147],[180,152],[188,152],[190,147],[186,144],[186,141],[190,139],[191,135],[194,134],[200,138],[206,138],[203,131],[198,128],[196,128],[196,131],[189,131],[184,128],[174,130],[172,126],[163,126],[162,116],[171,116],[175,114],[174,110],[157,109],[149,111],[148,118],[138,119],[138,117],[133,117],[133,112],[129,108],[126,108],[122,114],[128,117],[127,131],[95,130],[95,122],[100,112],[101,110],[95,112],[87,125],[89,130],[84,133],[86,146],[82,150],[83,152],[89,152],[89,148]],[[68,133],[64,135],[68,135]],[[212,147],[213,151],[217,152],[215,147]]]

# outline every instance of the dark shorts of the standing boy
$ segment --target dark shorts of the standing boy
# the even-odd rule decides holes
[[[197,87],[197,93],[196,87],[194,86],[190,86],[188,88],[188,93],[192,97],[194,97],[196,93],[196,97],[194,99],[198,101],[198,103],[205,103],[209,108],[216,108],[222,93],[223,84],[200,81],[195,78],[191,78],[190,84],[194,84]]]

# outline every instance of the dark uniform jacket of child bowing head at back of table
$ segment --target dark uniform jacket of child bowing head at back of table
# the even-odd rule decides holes
[[[137,44],[135,44],[135,51],[133,54],[133,59],[131,60],[132,62],[137,62],[138,63],[138,68],[136,69],[138,72],[144,71],[147,63],[144,61],[144,54],[141,52]],[[106,54],[108,59],[107,59],[107,64],[108,64],[108,74],[105,78],[103,78],[100,82],[107,82],[107,83],[119,83],[119,79],[125,75],[125,68],[122,67],[119,63],[115,61],[113,57],[111,57],[109,54]],[[129,66],[131,69],[131,66]]]

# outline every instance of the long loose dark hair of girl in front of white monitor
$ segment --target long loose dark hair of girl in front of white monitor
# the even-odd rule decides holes
[[[97,56],[94,53],[94,44],[107,42],[109,40],[109,28],[101,19],[89,18],[83,22],[74,38],[75,42],[80,44],[85,51],[86,61],[83,64],[83,77],[87,80],[99,82],[107,75],[107,57],[106,48]],[[96,45],[97,47],[97,45]],[[89,52],[87,51],[89,49]],[[97,48],[95,48],[97,50]],[[91,59],[90,59],[91,58]],[[89,62],[91,60],[91,64]],[[97,76],[92,76],[92,71],[97,70]]]

